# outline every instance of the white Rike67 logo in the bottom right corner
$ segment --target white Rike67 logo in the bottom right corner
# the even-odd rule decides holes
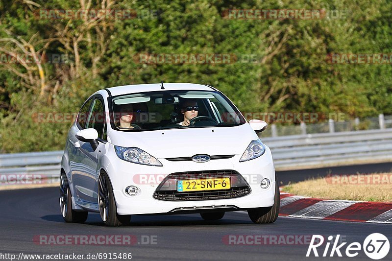
[[[334,238],[335,240],[332,241]],[[306,253],[306,257],[311,255],[314,255],[315,257],[319,257],[319,255],[322,257],[333,257],[335,254],[338,257],[343,257],[343,253],[346,257],[353,258],[358,256],[362,249],[369,258],[373,260],[379,260],[388,255],[390,248],[388,238],[380,233],[370,234],[365,238],[362,245],[359,242],[352,242],[345,246],[347,242],[339,244],[339,238],[340,235],[337,235],[336,237],[329,236],[328,241],[325,244],[324,251],[322,251],[323,247],[321,245],[324,243],[324,237],[321,235],[313,235],[308,247],[308,252]],[[330,249],[331,244],[332,247]],[[343,251],[344,246],[345,251]],[[322,253],[319,253],[318,251],[322,251]]]

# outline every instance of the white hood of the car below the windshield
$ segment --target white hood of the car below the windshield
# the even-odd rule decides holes
[[[123,132],[112,130],[109,142],[123,147],[138,147],[157,159],[191,157],[196,154],[243,154],[258,136],[249,123],[234,127],[168,129]]]

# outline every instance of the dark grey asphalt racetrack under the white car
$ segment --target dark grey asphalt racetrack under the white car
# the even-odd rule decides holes
[[[388,224],[291,217],[278,217],[273,224],[253,224],[245,212],[229,212],[219,221],[208,222],[198,214],[135,215],[129,226],[113,228],[102,226],[99,214],[91,213],[85,224],[65,223],[59,210],[57,188],[4,190],[0,191],[0,199],[0,253],[3,254],[132,253],[132,260],[370,260],[362,250],[351,259],[338,258],[336,254],[334,258],[306,258],[308,244],[227,245],[222,239],[227,235],[328,237],[340,234],[347,243],[362,244],[372,233],[382,233],[390,240],[392,235],[392,225]],[[141,236],[154,236],[156,244],[40,245],[33,241],[39,235],[134,235],[139,242]],[[323,251],[324,248],[320,249],[319,254]],[[391,260],[391,255],[390,251],[383,260]]]

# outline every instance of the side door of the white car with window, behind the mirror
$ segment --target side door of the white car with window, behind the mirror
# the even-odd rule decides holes
[[[82,127],[82,126],[80,126]],[[94,128],[98,132],[98,148],[94,150],[89,142],[79,141],[80,147],[77,158],[75,159],[75,166],[78,168],[73,171],[73,178],[75,190],[77,192],[80,203],[86,208],[96,208],[97,206],[91,205],[98,204],[98,158],[97,153],[101,150],[102,140],[105,128],[105,112],[103,106],[103,98],[96,96],[93,99],[90,112],[87,117],[85,129]],[[106,132],[105,132],[106,133]]]

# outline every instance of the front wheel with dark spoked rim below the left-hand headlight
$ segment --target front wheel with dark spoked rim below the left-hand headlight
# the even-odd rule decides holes
[[[131,215],[117,214],[116,201],[113,187],[105,172],[101,172],[98,178],[98,208],[99,214],[105,226],[126,226],[131,220]]]

